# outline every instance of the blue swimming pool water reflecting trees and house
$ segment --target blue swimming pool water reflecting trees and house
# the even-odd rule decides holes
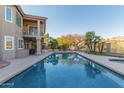
[[[120,88],[124,77],[75,53],[52,54],[0,87]]]

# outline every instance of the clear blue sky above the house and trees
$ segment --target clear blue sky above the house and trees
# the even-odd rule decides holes
[[[124,6],[22,6],[25,13],[48,17],[52,37],[95,31],[104,38],[124,36]]]

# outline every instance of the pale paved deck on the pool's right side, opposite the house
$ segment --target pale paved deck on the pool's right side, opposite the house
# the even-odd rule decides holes
[[[91,60],[94,60],[96,63],[101,64],[117,73],[120,73],[121,75],[124,75],[124,63],[109,61],[109,59],[123,59],[124,60],[124,58],[110,57],[110,56],[98,56],[98,55],[86,54],[82,52],[77,52],[77,53]]]

